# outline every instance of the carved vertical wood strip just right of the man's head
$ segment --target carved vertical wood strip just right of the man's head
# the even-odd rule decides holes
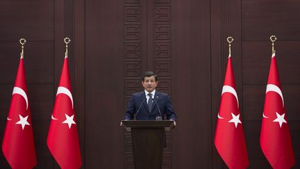
[[[151,15],[149,29],[149,58],[151,59],[151,69],[158,74],[159,88],[161,92],[172,95],[172,50],[171,50],[171,1],[155,0],[151,1]],[[153,11],[154,10],[154,11]],[[151,18],[151,17],[150,17]],[[153,22],[152,22],[153,21]],[[153,28],[151,27],[153,25]],[[151,41],[150,41],[151,40]],[[163,150],[163,168],[172,168],[172,131],[167,132],[167,146]]]

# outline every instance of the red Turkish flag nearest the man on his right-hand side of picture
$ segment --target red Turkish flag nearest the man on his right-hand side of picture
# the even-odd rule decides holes
[[[222,89],[215,130],[215,146],[228,168],[247,168],[249,166],[231,56],[228,57]]]

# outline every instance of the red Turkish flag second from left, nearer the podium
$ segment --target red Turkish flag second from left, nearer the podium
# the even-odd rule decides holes
[[[51,154],[60,168],[64,169],[81,167],[81,152],[71,91],[68,60],[65,58],[47,138]]]

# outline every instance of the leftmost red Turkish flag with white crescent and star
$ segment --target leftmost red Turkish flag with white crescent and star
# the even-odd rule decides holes
[[[2,150],[11,168],[33,168],[37,163],[23,58],[12,90]]]

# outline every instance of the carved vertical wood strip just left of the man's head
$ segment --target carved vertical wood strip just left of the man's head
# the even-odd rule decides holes
[[[142,74],[142,9],[140,0],[124,0],[124,110],[140,87]],[[131,133],[124,130],[124,168],[134,168]]]

